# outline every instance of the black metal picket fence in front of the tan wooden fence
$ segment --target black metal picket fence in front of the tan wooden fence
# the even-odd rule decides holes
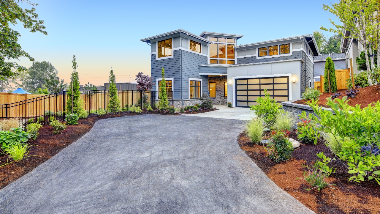
[[[174,105],[173,91],[168,91],[169,105]],[[132,105],[146,110],[150,105],[152,109],[158,109],[159,92],[145,90],[119,90],[117,96],[120,99],[120,111],[128,111]],[[67,105],[67,92],[62,91],[47,94],[24,101],[10,104],[0,104],[0,117],[18,117],[24,123],[40,122],[48,123],[49,117],[55,117],[62,121],[65,117]],[[107,110],[109,94],[107,90],[81,91],[82,107],[89,114],[97,114],[99,109]]]

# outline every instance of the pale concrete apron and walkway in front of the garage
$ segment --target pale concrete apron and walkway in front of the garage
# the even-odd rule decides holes
[[[255,112],[249,108],[228,108],[225,105],[214,105],[218,110],[212,112],[198,113],[198,114],[183,114],[193,117],[213,117],[213,118],[225,118],[234,120],[250,120],[252,117],[256,117]]]

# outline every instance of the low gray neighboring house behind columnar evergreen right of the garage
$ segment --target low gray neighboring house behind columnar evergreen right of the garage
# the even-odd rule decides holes
[[[314,81],[320,81],[320,75],[325,75],[325,64],[327,57],[331,57],[332,62],[334,62],[335,70],[347,69],[346,54],[320,54],[319,56],[314,57]]]

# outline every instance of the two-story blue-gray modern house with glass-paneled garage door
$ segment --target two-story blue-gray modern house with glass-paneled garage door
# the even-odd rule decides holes
[[[144,38],[151,46],[151,76],[160,90],[161,68],[176,107],[200,103],[209,93],[214,104],[255,105],[268,89],[277,102],[301,97],[313,87],[313,57],[319,55],[313,35],[236,45],[236,34],[174,30]]]

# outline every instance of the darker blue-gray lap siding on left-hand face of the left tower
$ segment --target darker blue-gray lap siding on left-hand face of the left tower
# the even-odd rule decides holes
[[[173,91],[174,91],[174,99],[180,99],[180,84],[181,84],[181,78],[180,78],[180,57],[181,52],[180,50],[173,51],[174,57],[169,59],[160,59],[156,60],[156,54],[150,55],[150,71],[151,76],[153,79],[153,83],[156,84],[157,78],[162,78],[161,76],[161,69],[165,69],[165,78],[171,78],[173,77],[174,85],[173,85]],[[157,85],[154,85],[152,87],[154,91],[157,90]]]

